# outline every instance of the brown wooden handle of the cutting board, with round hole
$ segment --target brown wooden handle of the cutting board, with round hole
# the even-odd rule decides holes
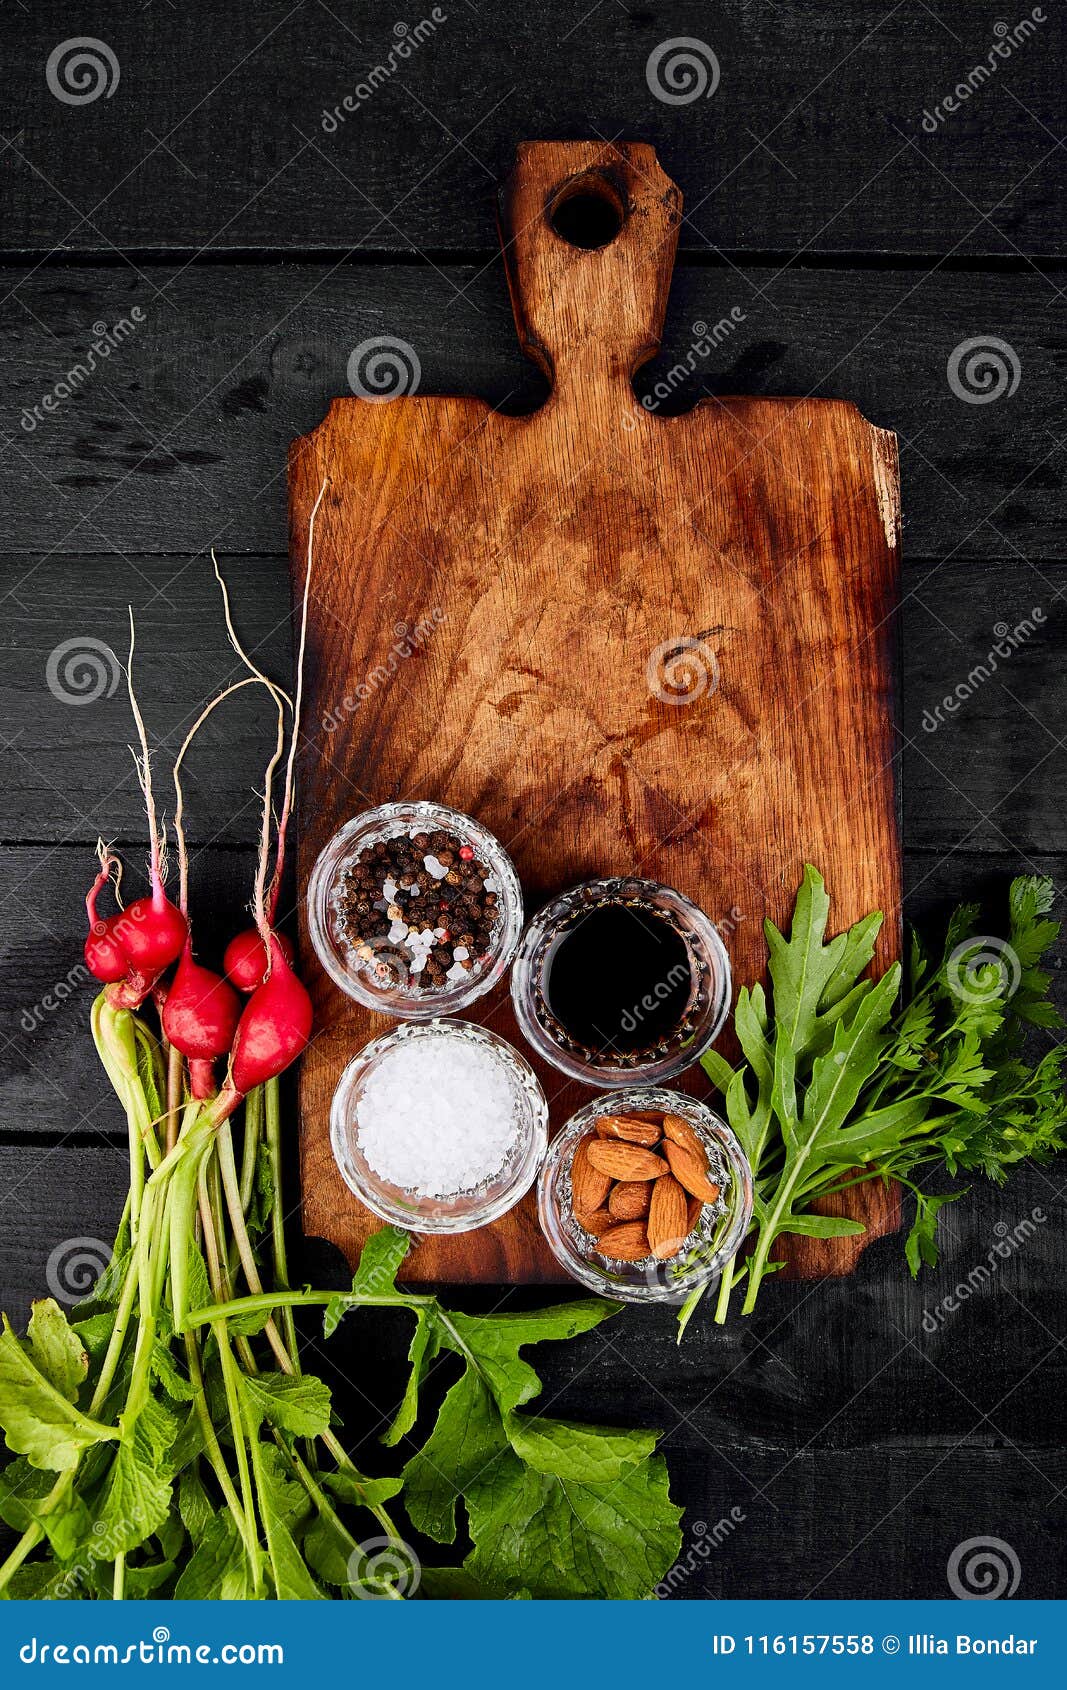
[[[643,142],[526,140],[501,189],[519,341],[558,399],[621,387],[659,350],[681,193]]]

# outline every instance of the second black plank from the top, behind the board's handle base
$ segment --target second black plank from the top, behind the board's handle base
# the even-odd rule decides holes
[[[509,411],[543,397],[516,346],[499,262],[150,275],[166,284],[161,299],[123,267],[0,270],[0,299],[17,287],[2,306],[0,551],[281,553],[287,444],[350,390],[348,360],[375,336],[411,348],[421,394],[468,392]],[[56,399],[93,324],[123,321],[125,338]],[[947,360],[989,335],[1013,348],[1021,385],[967,404]],[[637,389],[663,411],[703,394],[847,399],[900,436],[910,554],[1057,556],[1065,345],[1060,301],[1031,270],[688,267]]]

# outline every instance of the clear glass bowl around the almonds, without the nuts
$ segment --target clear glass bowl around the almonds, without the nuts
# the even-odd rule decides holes
[[[580,1141],[599,1115],[646,1110],[681,1115],[700,1137],[719,1200],[705,1203],[693,1232],[673,1261],[648,1256],[637,1262],[610,1261],[572,1212],[570,1169]],[[607,1092],[585,1104],[553,1139],[538,1181],[538,1218],[553,1256],[599,1296],[624,1303],[683,1303],[697,1286],[717,1279],[737,1254],[752,1217],[752,1171],[741,1144],[719,1115],[681,1092],[634,1087]]]

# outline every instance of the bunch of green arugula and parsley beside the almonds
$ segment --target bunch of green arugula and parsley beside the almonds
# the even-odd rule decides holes
[[[810,865],[790,936],[764,923],[769,995],[737,994],[742,1063],[717,1051],[703,1066],[752,1164],[756,1202],[744,1259],[724,1273],[715,1318],[744,1284],[751,1313],[781,1266],[788,1234],[847,1237],[857,1220],[820,1213],[820,1200],[864,1180],[900,1180],[915,1198],[905,1252],[911,1273],[937,1261],[937,1220],[962,1190],[932,1193],[920,1176],[982,1175],[1003,1183],[1020,1161],[1047,1161],[1067,1144],[1064,1061],[1055,1044],[1025,1051],[1028,1028],[1059,1029],[1042,967],[1060,924],[1048,921],[1052,882],[1021,875],[1008,894],[1008,936],[976,935],[977,904],[960,906],[940,951],[911,940],[908,970],[879,980],[866,968],[881,913],[827,940],[830,901]],[[697,1306],[688,1300],[681,1332]]]

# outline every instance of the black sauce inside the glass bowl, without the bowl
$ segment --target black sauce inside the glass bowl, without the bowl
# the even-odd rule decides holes
[[[541,995],[553,1021],[587,1051],[643,1051],[685,1019],[693,995],[690,950],[670,918],[646,904],[592,904],[550,943]]]

